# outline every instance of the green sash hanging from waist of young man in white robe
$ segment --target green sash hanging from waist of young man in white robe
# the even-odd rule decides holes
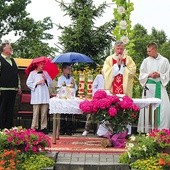
[[[155,98],[161,99],[161,82],[160,81],[156,82],[152,79],[148,79],[146,84],[155,84],[156,85]],[[160,125],[160,105],[158,107],[158,120],[157,121],[158,121],[157,123],[158,123],[158,126],[159,126]]]

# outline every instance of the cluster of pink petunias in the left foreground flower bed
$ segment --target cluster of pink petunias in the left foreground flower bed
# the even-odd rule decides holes
[[[36,153],[50,147],[50,138],[42,132],[36,132],[33,129],[23,129],[22,127],[14,127],[12,129],[4,129],[3,134],[6,136],[7,146],[16,147],[23,146],[25,152]]]

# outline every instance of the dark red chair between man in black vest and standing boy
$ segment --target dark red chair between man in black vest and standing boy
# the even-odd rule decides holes
[[[31,94],[22,93],[20,96],[20,104],[18,109],[18,124],[21,125],[21,118],[30,118],[32,119],[33,116],[33,108],[30,104]]]

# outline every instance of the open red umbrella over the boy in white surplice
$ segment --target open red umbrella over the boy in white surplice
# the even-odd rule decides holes
[[[52,79],[54,79],[59,74],[57,65],[52,63],[51,59],[45,56],[34,58],[31,64],[25,69],[25,73],[29,75],[29,73],[36,68],[37,63],[39,62],[45,62],[43,70],[46,70]]]

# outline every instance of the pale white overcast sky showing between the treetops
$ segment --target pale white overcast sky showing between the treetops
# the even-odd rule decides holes
[[[61,0],[58,0],[61,1]],[[64,0],[65,3],[70,3],[72,0]],[[113,4],[112,0],[93,0],[97,6],[102,2],[106,2],[109,7],[106,8],[103,17],[96,21],[96,25],[102,25],[107,21],[113,19]],[[170,0],[130,0],[134,3],[134,11],[131,13],[132,26],[139,23],[144,28],[151,32],[152,27],[157,30],[165,31],[168,39],[170,39]],[[55,0],[32,0],[32,3],[27,6],[27,11],[30,17],[35,20],[42,20],[45,17],[51,17],[53,23],[67,26],[70,23],[70,18],[64,16],[63,11],[60,9],[59,4]],[[54,35],[54,39],[49,42],[50,46],[55,46],[54,43],[58,42],[58,36],[61,34],[59,30],[54,27],[50,31]],[[4,39],[11,39],[15,42],[17,37],[12,34],[4,37]]]

